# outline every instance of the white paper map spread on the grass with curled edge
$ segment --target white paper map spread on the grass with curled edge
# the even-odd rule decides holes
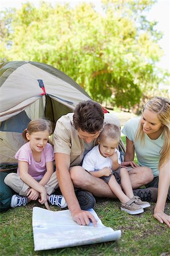
[[[92,223],[88,226],[78,225],[73,221],[69,210],[53,212],[34,207],[32,213],[34,250],[89,245],[114,241],[121,237],[121,230],[114,231],[104,226],[93,209],[89,212],[96,218],[97,227]]]

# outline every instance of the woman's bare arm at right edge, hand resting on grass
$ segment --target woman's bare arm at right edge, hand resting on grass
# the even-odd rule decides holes
[[[170,216],[164,213],[170,185],[170,159],[160,168],[157,202],[154,210],[154,217],[160,222],[165,223],[170,228]]]

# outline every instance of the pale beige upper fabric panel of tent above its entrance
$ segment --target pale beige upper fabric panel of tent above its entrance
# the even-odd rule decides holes
[[[11,62],[13,63],[13,61]],[[9,64],[7,67],[11,71]],[[49,71],[49,65],[42,64],[42,67],[44,69],[36,67],[35,63],[32,65],[30,61],[20,65],[9,76],[6,75],[6,71],[2,73],[1,80],[3,82],[0,83],[1,95],[3,95],[0,98],[1,122],[15,115],[16,112],[21,112],[42,96],[43,90],[38,81],[40,79],[43,81],[46,94],[68,108],[74,109],[79,101],[90,98],[76,82],[63,72],[51,67],[49,73],[46,71]],[[2,68],[5,69],[5,66]],[[54,71],[55,75],[53,75]]]

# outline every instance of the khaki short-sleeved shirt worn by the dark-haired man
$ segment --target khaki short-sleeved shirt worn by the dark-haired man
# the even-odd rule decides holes
[[[121,126],[114,114],[105,114],[105,122]],[[71,167],[81,164],[85,151],[84,140],[78,137],[77,130],[73,127],[73,113],[63,115],[57,120],[53,140],[55,153],[71,156]],[[93,147],[96,145],[97,139],[94,139]]]

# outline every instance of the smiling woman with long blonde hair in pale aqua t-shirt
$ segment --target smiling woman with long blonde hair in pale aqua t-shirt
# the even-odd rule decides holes
[[[134,195],[148,200],[147,195],[154,191],[155,197],[157,194],[154,217],[170,228],[170,216],[164,213],[166,200],[170,200],[170,100],[152,98],[144,106],[142,117],[128,120],[122,132],[127,146],[123,166],[132,167],[130,177],[133,174],[133,181],[140,180],[140,167],[135,172],[134,152],[139,166],[151,168],[154,175],[150,183],[143,184],[147,188],[135,189]]]

